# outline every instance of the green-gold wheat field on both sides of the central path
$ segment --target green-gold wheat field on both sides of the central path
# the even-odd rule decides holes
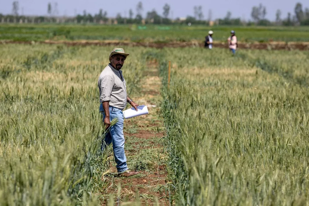
[[[1,45],[1,205],[106,202],[97,78],[112,49]],[[307,205],[307,51],[124,49],[130,96],[158,62],[171,205]]]

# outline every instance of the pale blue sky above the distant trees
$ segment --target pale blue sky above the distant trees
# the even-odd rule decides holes
[[[11,0],[1,0],[0,1],[0,13],[10,14],[12,11]],[[58,2],[59,15],[73,16],[75,11],[79,14],[83,13],[85,9],[87,13],[95,14],[98,13],[99,8],[108,12],[108,17],[115,17],[117,13],[121,13],[122,16],[128,16],[129,9],[132,8],[134,16],[136,14],[136,4],[138,0],[116,0],[116,1],[106,1],[106,0],[19,0],[19,14],[25,15],[47,15],[47,4],[51,2]],[[309,7],[309,1],[305,0],[260,0],[260,1],[250,1],[250,0],[213,0],[213,1],[203,1],[203,0],[143,0],[143,16],[145,16],[146,11],[155,9],[159,14],[162,14],[162,7],[165,3],[171,6],[171,13],[173,18],[185,17],[187,15],[193,15],[193,6],[201,5],[203,7],[204,18],[208,18],[209,9],[212,10],[212,19],[222,18],[226,15],[227,11],[232,12],[232,17],[240,17],[248,20],[251,13],[251,8],[254,5],[262,3],[267,8],[266,18],[270,20],[275,19],[275,13],[277,9],[282,12],[281,18],[285,18],[288,12],[294,15],[294,7],[296,2],[301,2],[303,4],[303,10],[305,7]],[[125,13],[126,12],[126,13]]]

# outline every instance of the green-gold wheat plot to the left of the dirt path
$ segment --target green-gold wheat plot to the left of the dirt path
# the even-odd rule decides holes
[[[97,81],[112,49],[1,45],[0,205],[99,204],[108,167]],[[129,52],[134,95],[145,67],[141,48]]]

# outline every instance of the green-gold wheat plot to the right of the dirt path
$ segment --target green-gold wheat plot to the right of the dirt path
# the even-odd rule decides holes
[[[163,114],[176,205],[308,201],[308,52],[165,49]],[[166,60],[172,60],[167,87]]]

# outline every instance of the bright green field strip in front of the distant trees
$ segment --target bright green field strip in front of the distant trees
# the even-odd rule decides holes
[[[147,24],[145,29],[137,25],[91,25],[91,24],[1,24],[0,40],[13,41],[132,41],[132,42],[190,42],[204,40],[209,30],[214,31],[214,40],[226,42],[231,30],[235,30],[240,42],[308,42],[308,26],[215,26],[169,25],[160,29],[159,25]]]

